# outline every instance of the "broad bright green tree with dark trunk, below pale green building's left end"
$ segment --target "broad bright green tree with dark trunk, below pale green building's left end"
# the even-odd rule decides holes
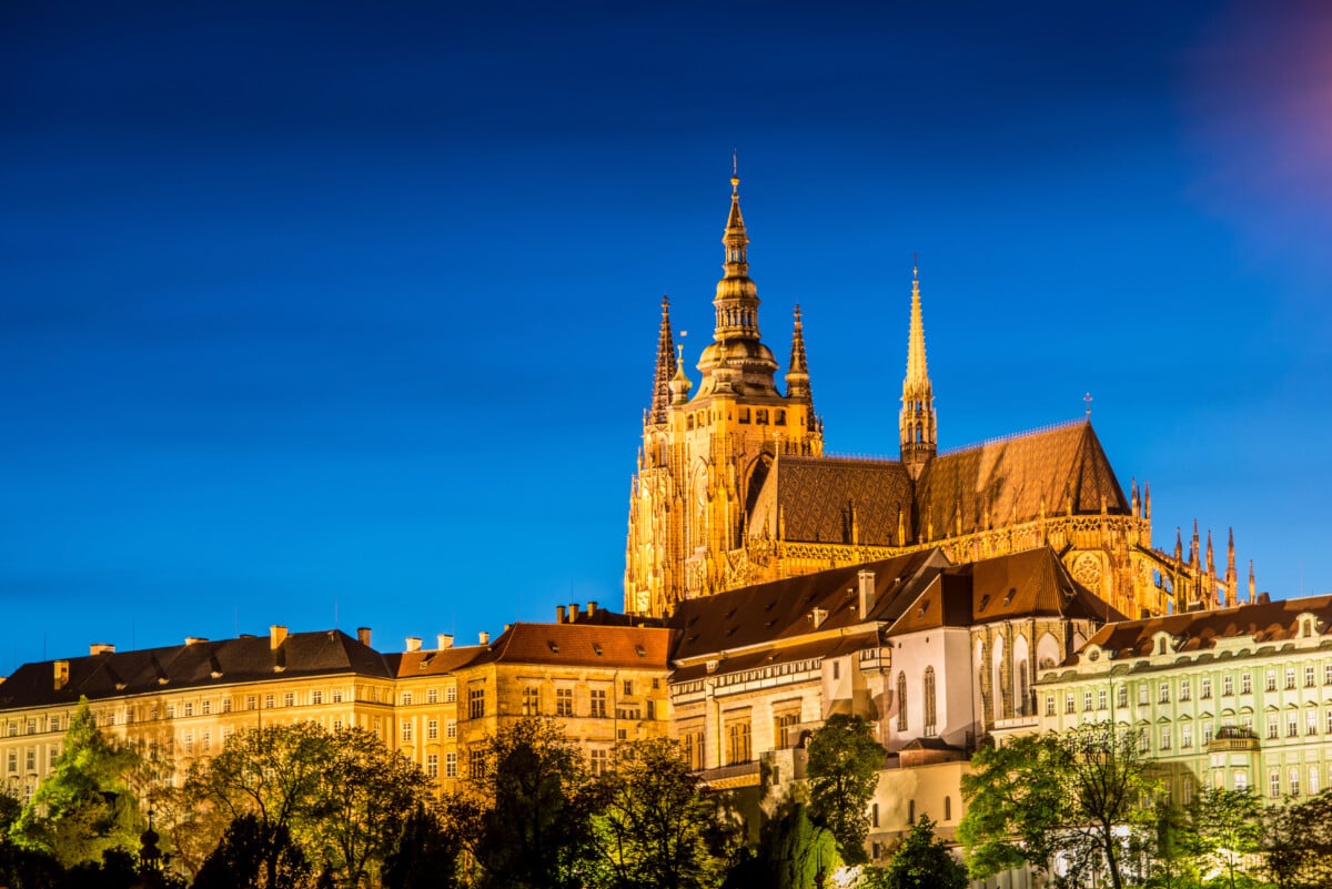
[[[1150,767],[1138,736],[1108,723],[982,751],[962,779],[970,808],[958,825],[971,876],[1048,870],[1058,853],[1070,882],[1104,868],[1123,889],[1120,830],[1140,826],[1140,802],[1156,796]]]

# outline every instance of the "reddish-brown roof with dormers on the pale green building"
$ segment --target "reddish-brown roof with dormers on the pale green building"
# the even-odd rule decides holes
[[[1205,651],[1215,647],[1217,639],[1235,636],[1253,636],[1259,643],[1283,641],[1297,636],[1296,618],[1307,611],[1317,616],[1317,632],[1332,627],[1332,595],[1323,595],[1126,620],[1102,627],[1087,645],[1099,645],[1120,660],[1151,655],[1152,637],[1159,632],[1175,637],[1173,651],[1177,652]],[[1075,664],[1079,657],[1074,655],[1068,663]]]

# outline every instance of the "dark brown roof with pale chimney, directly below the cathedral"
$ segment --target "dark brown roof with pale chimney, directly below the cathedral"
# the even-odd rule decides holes
[[[891,620],[894,603],[926,566],[946,566],[938,550],[922,550],[882,562],[831,568],[681,602],[669,624],[681,632],[673,657],[797,639],[813,632],[815,608],[826,614],[819,629],[863,623],[859,618],[859,572],[874,572],[875,604],[870,618]]]

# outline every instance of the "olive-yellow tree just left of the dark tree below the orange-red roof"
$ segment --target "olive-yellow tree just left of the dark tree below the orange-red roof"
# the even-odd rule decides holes
[[[324,865],[358,886],[393,852],[405,814],[429,797],[430,780],[361,728],[333,732],[326,749],[316,791],[321,802],[304,832]]]

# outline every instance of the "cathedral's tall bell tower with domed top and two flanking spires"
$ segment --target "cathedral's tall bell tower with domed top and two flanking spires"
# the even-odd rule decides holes
[[[681,599],[749,583],[745,539],[754,496],[782,455],[823,452],[801,311],[783,395],[777,358],[759,333],[749,244],[733,170],[713,342],[698,359],[697,389],[683,357],[677,359],[670,305],[662,299],[653,398],[629,507],[627,614],[670,614]]]

